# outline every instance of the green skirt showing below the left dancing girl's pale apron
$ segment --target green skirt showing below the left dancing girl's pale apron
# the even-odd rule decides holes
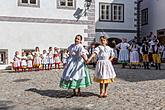
[[[67,81],[67,80],[61,79],[60,87],[64,89],[77,89],[77,88],[90,86],[92,84],[92,81],[88,72],[88,68],[85,68],[85,74],[86,74],[86,77],[80,80]]]

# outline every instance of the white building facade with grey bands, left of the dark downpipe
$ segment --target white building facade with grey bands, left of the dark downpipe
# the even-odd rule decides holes
[[[0,10],[0,68],[15,51],[66,48],[77,34],[84,45],[137,34],[137,0],[1,0]]]

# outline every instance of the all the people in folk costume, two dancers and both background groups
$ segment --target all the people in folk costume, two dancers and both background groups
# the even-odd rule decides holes
[[[165,47],[161,45],[156,36],[151,35],[143,38],[142,45],[136,41],[131,44],[126,38],[119,44],[114,43],[114,47],[107,46],[108,38],[100,37],[98,45],[92,44],[89,49],[82,45],[82,36],[77,35],[75,42],[68,49],[61,53],[60,49],[49,47],[48,51],[40,53],[39,47],[28,54],[15,52],[13,68],[15,71],[51,70],[60,64],[64,65],[61,75],[60,87],[73,89],[72,96],[81,96],[80,88],[88,87],[92,84],[87,65],[93,63],[95,66],[94,81],[100,84],[99,97],[107,97],[108,84],[114,82],[116,77],[113,63],[119,62],[124,68],[127,64],[131,66],[139,65],[143,62],[144,69],[161,69],[161,60],[165,58]],[[88,50],[88,51],[87,51]]]

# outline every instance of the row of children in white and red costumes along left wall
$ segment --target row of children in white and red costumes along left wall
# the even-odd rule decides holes
[[[61,65],[65,65],[68,57],[67,49],[61,51],[59,48],[49,47],[48,51],[40,52],[39,47],[34,52],[15,52],[13,59],[13,69],[15,71],[32,71],[32,70],[51,70],[60,69]]]

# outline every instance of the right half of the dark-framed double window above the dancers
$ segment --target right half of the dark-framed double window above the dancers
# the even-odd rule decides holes
[[[112,21],[124,21],[123,4],[112,4]]]

